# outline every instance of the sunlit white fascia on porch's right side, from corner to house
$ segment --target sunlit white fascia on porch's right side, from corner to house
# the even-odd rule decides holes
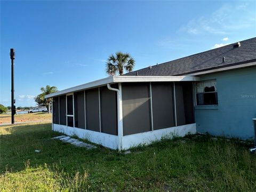
[[[179,82],[199,81],[200,77],[193,76],[116,76],[114,82]]]

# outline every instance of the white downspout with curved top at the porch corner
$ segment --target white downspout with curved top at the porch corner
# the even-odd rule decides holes
[[[123,127],[123,123],[122,121],[122,95],[121,95],[121,91],[119,89],[115,89],[113,87],[110,86],[110,84],[107,84],[107,87],[110,91],[116,91],[117,92],[117,120],[118,120],[118,136],[119,136],[119,145],[118,145],[118,151],[121,151],[122,149],[122,127]]]

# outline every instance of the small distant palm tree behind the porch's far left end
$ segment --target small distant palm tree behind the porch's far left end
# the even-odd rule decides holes
[[[55,86],[46,85],[46,87],[41,87],[40,90],[42,91],[42,93],[38,94],[35,97],[35,102],[38,105],[45,105],[48,108],[49,113],[51,113],[50,112],[51,111],[50,102],[52,102],[52,99],[51,98],[50,99],[45,99],[44,96],[47,95],[47,94],[57,92],[58,89]]]

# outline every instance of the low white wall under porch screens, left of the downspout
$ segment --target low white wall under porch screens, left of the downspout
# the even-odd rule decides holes
[[[68,127],[66,125],[59,124],[53,124],[53,131],[65,133],[70,136],[76,135],[81,139],[87,139],[93,143],[97,143],[110,149],[118,148],[119,139],[116,135],[84,130],[75,127]]]

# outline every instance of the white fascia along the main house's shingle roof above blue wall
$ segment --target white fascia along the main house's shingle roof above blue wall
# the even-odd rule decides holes
[[[219,68],[219,69],[210,69],[210,70],[201,71],[201,72],[197,72],[197,73],[191,73],[191,74],[188,74],[188,76],[218,73],[218,72],[221,72],[221,71],[234,70],[234,69],[245,68],[245,67],[253,67],[253,66],[256,66],[256,62],[244,63],[244,64],[241,64],[241,65],[223,67],[223,68]]]

